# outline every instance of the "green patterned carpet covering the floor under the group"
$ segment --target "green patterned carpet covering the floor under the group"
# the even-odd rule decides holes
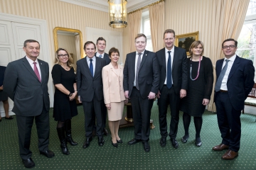
[[[142,143],[129,146],[127,142],[134,137],[133,127],[122,128],[119,136],[124,141],[118,148],[112,147],[110,135],[105,137],[105,145],[97,145],[94,137],[90,147],[82,149],[85,140],[84,114],[82,106],[78,106],[79,114],[72,120],[73,139],[78,146],[68,145],[70,155],[60,151],[60,143],[55,130],[56,122],[53,120],[53,109],[50,109],[50,150],[55,157],[48,159],[39,154],[37,147],[36,125],[33,125],[31,137],[32,158],[36,163],[33,169],[256,169],[256,123],[255,115],[243,114],[242,139],[239,157],[231,161],[223,161],[220,157],[225,153],[213,152],[211,148],[220,144],[220,132],[215,113],[206,111],[203,114],[203,128],[201,140],[203,145],[196,147],[195,128],[193,119],[190,127],[190,138],[186,144],[181,143],[183,137],[182,113],[178,125],[178,149],[171,146],[170,140],[166,147],[159,145],[160,132],[158,123],[158,107],[156,103],[151,111],[151,119],[156,128],[151,130],[149,144],[151,151],[144,152]],[[170,113],[168,113],[170,121]],[[168,122],[169,125],[169,122]],[[108,129],[108,128],[107,128]],[[14,120],[2,119],[0,123],[0,169],[26,169],[18,154],[18,135],[16,117]]]

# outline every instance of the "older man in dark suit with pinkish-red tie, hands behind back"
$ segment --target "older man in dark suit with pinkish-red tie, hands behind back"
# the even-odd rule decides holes
[[[49,145],[49,108],[48,94],[49,66],[38,60],[40,45],[36,40],[26,40],[23,44],[26,56],[10,62],[6,67],[4,91],[14,101],[18,126],[18,145],[22,162],[26,168],[35,166],[29,149],[33,120],[36,120],[38,149],[46,157],[54,157]]]

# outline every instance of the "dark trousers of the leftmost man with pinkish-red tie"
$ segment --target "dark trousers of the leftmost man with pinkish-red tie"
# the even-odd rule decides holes
[[[43,106],[43,111],[36,116],[21,116],[16,115],[18,126],[18,146],[21,159],[28,159],[32,157],[32,152],[29,149],[31,144],[31,130],[33,120],[36,120],[36,130],[38,134],[38,149],[41,152],[48,150],[50,125],[49,112]]]

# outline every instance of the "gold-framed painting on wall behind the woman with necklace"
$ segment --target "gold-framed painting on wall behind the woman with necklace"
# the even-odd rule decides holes
[[[191,46],[192,42],[195,40],[198,40],[198,33],[199,31],[196,31],[194,33],[186,33],[182,35],[176,35],[175,38],[175,46],[181,47],[186,50],[186,55],[189,55],[189,47]]]

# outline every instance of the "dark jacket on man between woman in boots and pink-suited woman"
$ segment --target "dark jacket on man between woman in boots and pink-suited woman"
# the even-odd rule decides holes
[[[102,84],[102,68],[105,67],[106,61],[100,57],[95,57],[95,75],[92,77],[87,64],[86,57],[77,62],[77,86],[78,96],[81,101],[92,101],[97,98],[98,101],[103,100],[103,84]]]

